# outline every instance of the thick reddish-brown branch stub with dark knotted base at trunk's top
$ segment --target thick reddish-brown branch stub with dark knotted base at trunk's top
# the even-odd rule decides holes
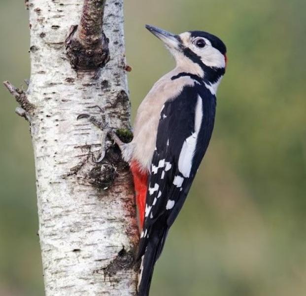
[[[98,73],[109,61],[108,38],[103,33],[105,0],[84,0],[78,26],[72,26],[66,39],[70,64],[78,72]]]

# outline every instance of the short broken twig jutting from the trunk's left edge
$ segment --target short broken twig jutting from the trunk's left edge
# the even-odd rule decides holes
[[[3,84],[20,105],[20,107],[16,108],[15,112],[19,116],[24,117],[29,121],[29,113],[34,110],[34,105],[29,102],[25,92],[19,88],[16,88],[9,81],[4,81]]]

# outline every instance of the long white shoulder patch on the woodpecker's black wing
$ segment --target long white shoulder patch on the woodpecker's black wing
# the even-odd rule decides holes
[[[199,135],[199,131],[202,125],[203,103],[202,103],[202,98],[200,96],[198,96],[195,113],[196,113],[195,114],[195,131],[190,137],[188,137],[184,141],[184,144],[183,144],[183,147],[179,154],[179,159],[178,159],[178,170],[181,172],[181,174],[185,178],[190,177],[192,160],[193,160],[193,156],[196,151],[198,135]]]

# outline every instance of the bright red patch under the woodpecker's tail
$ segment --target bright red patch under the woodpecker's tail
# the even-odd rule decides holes
[[[138,209],[139,225],[141,231],[144,221],[148,174],[140,169],[139,163],[136,160],[132,160],[132,162],[130,163],[130,169],[134,177],[136,205]]]

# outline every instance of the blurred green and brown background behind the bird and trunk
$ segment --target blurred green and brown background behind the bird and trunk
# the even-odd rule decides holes
[[[228,46],[213,139],[158,261],[152,296],[306,295],[306,1],[129,0],[133,116],[173,67],[144,24]],[[0,3],[0,81],[30,76],[28,12]],[[0,87],[0,295],[42,296],[28,124]]]

